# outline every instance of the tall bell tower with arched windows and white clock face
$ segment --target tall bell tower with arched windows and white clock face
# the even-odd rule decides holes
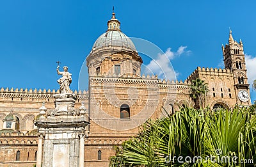
[[[233,73],[234,89],[236,92],[237,104],[248,106],[250,101],[250,89],[246,74],[243,42],[236,42],[230,30],[228,44],[222,45],[224,65]]]

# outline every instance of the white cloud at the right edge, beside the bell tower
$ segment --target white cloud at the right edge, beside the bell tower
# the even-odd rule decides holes
[[[256,57],[245,54],[245,61],[247,68],[248,83],[252,85],[253,81],[256,79]]]

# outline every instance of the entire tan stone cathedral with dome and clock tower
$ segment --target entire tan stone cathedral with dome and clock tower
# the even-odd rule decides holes
[[[138,134],[148,118],[164,116],[162,107],[170,114],[179,107],[195,107],[189,97],[189,84],[196,78],[204,80],[209,88],[204,106],[250,106],[243,42],[236,42],[230,31],[222,52],[225,68],[197,67],[185,81],[145,76],[141,74],[143,60],[132,40],[121,31],[113,12],[108,29],[97,38],[86,58],[88,90],[67,93],[61,89],[1,88],[0,166],[49,166],[49,161],[63,157],[65,166],[108,166],[115,146]],[[63,86],[68,90],[67,84]],[[77,136],[68,140],[73,136],[66,131]],[[55,155],[64,147],[67,152],[76,150],[72,153],[75,158],[67,156],[71,153]],[[47,158],[49,154],[52,159]]]

